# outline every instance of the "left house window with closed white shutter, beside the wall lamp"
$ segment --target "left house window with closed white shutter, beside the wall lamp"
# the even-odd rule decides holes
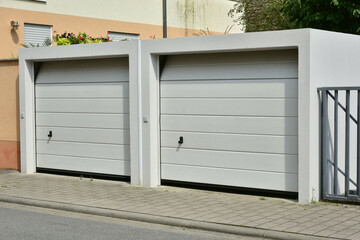
[[[24,24],[24,44],[28,47],[51,45],[51,26]]]

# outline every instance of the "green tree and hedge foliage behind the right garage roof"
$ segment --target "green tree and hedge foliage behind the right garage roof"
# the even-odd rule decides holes
[[[229,15],[246,32],[317,28],[360,34],[360,0],[238,0]]]

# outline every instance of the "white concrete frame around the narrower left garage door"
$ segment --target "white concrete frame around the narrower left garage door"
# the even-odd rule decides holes
[[[131,183],[141,184],[139,148],[139,41],[20,49],[21,172],[36,172],[34,65],[36,62],[129,58]]]

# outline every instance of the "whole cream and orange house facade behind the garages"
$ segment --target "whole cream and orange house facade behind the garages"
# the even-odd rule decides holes
[[[225,0],[167,2],[167,36],[223,34],[232,25]],[[54,32],[86,32],[114,41],[162,38],[162,0],[0,0],[0,169],[20,169],[18,49]],[[240,32],[234,26],[229,33]]]

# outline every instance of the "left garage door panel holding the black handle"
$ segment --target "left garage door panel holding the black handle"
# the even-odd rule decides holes
[[[52,131],[51,141],[109,144],[130,143],[130,131],[116,129],[37,127],[36,138],[38,140],[49,140],[49,131]]]

